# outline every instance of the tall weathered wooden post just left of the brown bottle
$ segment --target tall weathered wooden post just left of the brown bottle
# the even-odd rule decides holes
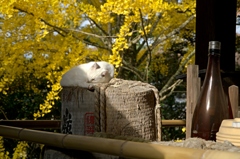
[[[186,139],[191,137],[192,116],[200,92],[200,83],[198,65],[189,65],[187,67]]]

